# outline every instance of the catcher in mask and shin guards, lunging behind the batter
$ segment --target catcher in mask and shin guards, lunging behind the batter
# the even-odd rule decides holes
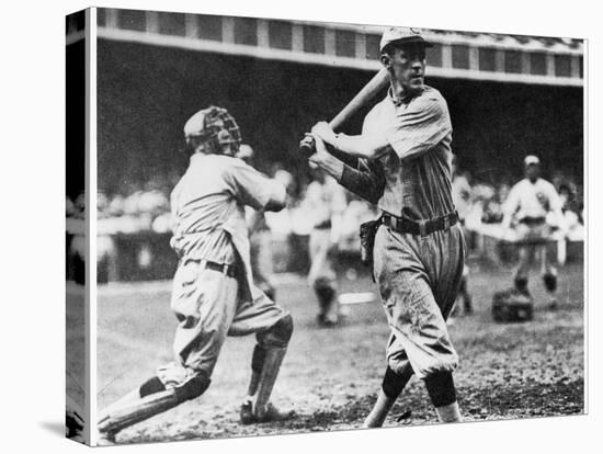
[[[280,211],[285,189],[235,158],[235,118],[211,106],[184,125],[189,169],[171,194],[173,237],[180,257],[171,307],[179,325],[175,360],[99,417],[101,441],[122,429],[201,396],[227,336],[255,334],[241,422],[284,419],[269,399],[293,332],[289,313],[252,281],[244,206]]]

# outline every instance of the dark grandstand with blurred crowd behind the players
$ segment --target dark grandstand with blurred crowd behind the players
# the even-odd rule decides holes
[[[212,104],[235,116],[243,141],[255,150],[260,171],[289,175],[288,207],[270,214],[266,222],[275,249],[296,257],[291,238],[295,248],[303,247],[299,239],[311,229],[305,222],[310,217],[304,215],[311,172],[297,155],[298,143],[314,123],[339,112],[372,71],[110,39],[99,41],[98,58],[96,259],[103,263],[100,274],[107,270],[101,279],[129,279],[133,273],[124,270],[140,264],[145,266],[135,279],[167,277],[172,272],[173,260],[164,258],[172,256],[169,194],[187,166],[182,127],[193,113]],[[523,158],[536,155],[543,177],[564,196],[568,224],[574,227],[572,239],[583,239],[583,89],[430,78],[429,61],[428,83],[448,103],[453,150],[459,174],[471,188],[467,203],[474,228],[501,220],[509,190],[522,178]],[[359,134],[369,109],[361,110],[343,132]],[[77,168],[83,159],[76,143],[67,147],[71,174],[69,166]],[[76,155],[78,159],[69,159]],[[68,184],[68,216],[81,216],[81,188],[79,180]],[[355,251],[357,226],[375,213],[352,196],[349,202],[349,231],[341,250]],[[134,247],[134,236],[151,246]],[[130,257],[125,265],[124,257]],[[168,272],[152,271],[162,268]]]

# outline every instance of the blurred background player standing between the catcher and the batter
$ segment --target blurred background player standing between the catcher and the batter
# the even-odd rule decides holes
[[[318,324],[332,327],[339,321],[333,254],[337,252],[341,219],[348,201],[343,188],[331,175],[322,169],[315,169],[315,175],[316,179],[306,190],[308,213],[314,220],[309,239],[311,265],[308,282],[318,299]]]

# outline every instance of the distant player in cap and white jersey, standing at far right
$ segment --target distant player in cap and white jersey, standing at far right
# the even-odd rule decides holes
[[[561,201],[555,186],[541,178],[541,160],[536,156],[526,156],[524,164],[525,178],[511,189],[504,202],[502,220],[505,229],[515,226],[515,238],[520,241],[515,288],[530,296],[530,263],[532,257],[538,254],[545,288],[550,296],[549,308],[556,309],[557,270],[551,263],[547,240],[554,226],[562,227]]]

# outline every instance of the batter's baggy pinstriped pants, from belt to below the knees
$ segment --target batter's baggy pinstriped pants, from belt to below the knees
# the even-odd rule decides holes
[[[446,328],[463,276],[466,246],[458,225],[421,237],[380,226],[374,273],[391,336],[389,367],[419,378],[452,372],[458,355]]]

